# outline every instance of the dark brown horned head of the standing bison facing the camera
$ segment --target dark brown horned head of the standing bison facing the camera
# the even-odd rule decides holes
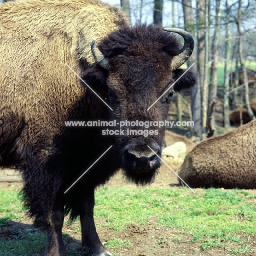
[[[108,119],[149,122],[149,127],[129,126],[126,123],[122,127],[124,134],[115,136],[115,153],[119,156],[121,167],[126,176],[136,183],[152,181],[160,166],[160,159],[151,149],[161,155],[165,127],[155,127],[153,122],[167,120],[174,92],[195,84],[192,72],[183,75],[183,70],[177,69],[191,55],[193,38],[182,30],[170,31],[183,36],[183,48],[174,34],[158,27],[140,25],[120,28],[104,38],[98,48],[92,43],[97,65],[83,75],[87,82],[100,88],[98,91],[107,92],[102,96],[113,109],[109,111]],[[177,79],[178,82],[168,90]],[[137,132],[127,135],[128,129]]]

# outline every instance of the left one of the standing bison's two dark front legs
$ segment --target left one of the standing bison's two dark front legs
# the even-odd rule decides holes
[[[63,197],[58,196],[53,211],[49,213],[49,228],[47,230],[47,256],[68,256],[62,240],[62,226],[64,222]]]

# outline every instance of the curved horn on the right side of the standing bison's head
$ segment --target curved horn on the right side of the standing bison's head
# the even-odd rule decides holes
[[[180,34],[184,38],[184,45],[182,49],[179,51],[179,54],[174,56],[172,59],[172,69],[174,70],[181,67],[181,65],[188,60],[190,55],[193,53],[194,39],[189,32],[181,30],[181,28],[165,27],[164,30]]]

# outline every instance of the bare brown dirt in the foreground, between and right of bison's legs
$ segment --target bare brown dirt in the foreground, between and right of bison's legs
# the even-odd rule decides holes
[[[75,223],[73,225],[79,225]],[[65,228],[64,228],[65,231]],[[166,228],[156,224],[154,219],[149,220],[145,225],[138,225],[136,223],[130,224],[125,230],[117,232],[112,228],[98,228],[98,235],[101,237],[101,241],[106,243],[114,238],[121,240],[129,240],[131,246],[124,246],[124,248],[109,248],[109,251],[118,256],[171,256],[171,255],[201,255],[201,256],[231,256],[232,249],[237,247],[237,244],[230,243],[223,248],[211,248],[207,251],[202,251],[201,243],[192,242],[193,234],[181,233],[175,228]],[[73,241],[72,246],[79,249],[80,234],[77,232],[68,232],[66,234],[71,235],[76,241]],[[240,235],[243,237],[243,234]],[[241,238],[244,242],[247,242],[247,237]],[[256,236],[251,236],[251,252],[242,254],[244,256],[253,256],[256,254]],[[67,245],[67,248],[70,248]],[[241,255],[241,254],[238,254]]]

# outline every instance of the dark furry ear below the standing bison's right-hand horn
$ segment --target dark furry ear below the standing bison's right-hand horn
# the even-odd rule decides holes
[[[174,84],[173,89],[174,91],[180,92],[183,89],[191,88],[196,84],[196,75],[193,71],[188,71],[185,73],[184,69],[178,68],[175,71],[173,71],[173,80],[177,81],[176,84]]]

